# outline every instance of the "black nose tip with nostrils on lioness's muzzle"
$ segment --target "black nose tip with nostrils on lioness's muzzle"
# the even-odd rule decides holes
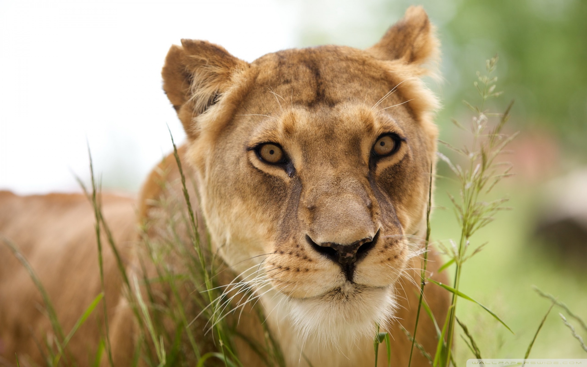
[[[373,238],[367,237],[362,240],[353,242],[352,244],[343,245],[334,242],[323,242],[317,244],[312,241],[309,235],[306,235],[306,241],[312,246],[314,250],[325,255],[330,260],[338,262],[347,275],[348,280],[352,280],[355,262],[361,260],[367,255],[367,252],[375,247],[379,238],[379,231]],[[349,279],[350,277],[350,279]]]

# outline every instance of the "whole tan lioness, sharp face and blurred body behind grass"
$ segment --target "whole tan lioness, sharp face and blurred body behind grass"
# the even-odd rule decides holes
[[[411,342],[403,328],[413,332],[422,266],[409,241],[426,231],[437,137],[437,100],[419,78],[437,51],[420,7],[409,8],[366,50],[289,49],[252,63],[205,41],[184,39],[169,50],[163,88],[188,136],[179,153],[197,182],[196,217],[204,218],[228,270],[247,274],[256,265],[269,288],[260,297],[266,323],[288,366],[373,366],[377,324],[392,335],[393,365],[407,366]],[[136,207],[128,198],[103,197],[129,271],[135,213],[143,223],[161,214],[153,201],[181,203],[178,177],[170,156]],[[101,289],[90,203],[81,195],[0,193],[0,233],[28,258],[68,331]],[[107,247],[103,252],[113,361],[127,366],[136,325],[114,257]],[[429,258],[434,274],[438,257]],[[442,327],[448,295],[429,285],[425,297]],[[0,363],[15,365],[15,353],[21,365],[44,363],[50,322],[39,304],[29,274],[3,245]],[[90,363],[101,312],[96,308],[98,318],[69,342],[66,363]],[[256,320],[245,311],[239,332],[260,338]],[[197,334],[202,345],[211,338]],[[424,311],[417,341],[434,356],[436,332]],[[237,346],[243,365],[261,365],[249,344]],[[413,365],[427,363],[414,351]]]

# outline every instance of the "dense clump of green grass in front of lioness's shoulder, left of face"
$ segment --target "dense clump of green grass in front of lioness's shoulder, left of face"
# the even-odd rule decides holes
[[[235,346],[235,340],[242,338],[236,329],[238,320],[227,315],[242,307],[242,299],[251,299],[253,291],[244,287],[239,289],[241,297],[235,298],[229,295],[234,289],[220,281],[220,273],[230,269],[215,257],[209,238],[198,229],[201,218],[195,214],[188,190],[192,179],[184,173],[171,139],[184,203],[165,197],[151,203],[164,214],[142,224],[137,254],[140,275],[124,277],[127,299],[138,310],[134,315],[141,326],[137,358],[150,366],[242,366]],[[163,191],[173,190],[170,183],[160,184]],[[253,310],[259,322],[264,321],[261,310]],[[265,345],[246,342],[265,365],[284,366],[279,346],[267,329],[265,338]]]

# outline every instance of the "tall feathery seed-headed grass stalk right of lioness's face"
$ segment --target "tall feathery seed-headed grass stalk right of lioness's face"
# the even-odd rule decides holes
[[[458,298],[465,298],[474,301],[473,298],[464,295],[460,291],[461,272],[464,263],[474,255],[478,254],[486,243],[472,244],[471,236],[480,228],[491,223],[494,220],[495,214],[503,210],[503,204],[507,201],[505,198],[498,198],[497,200],[485,201],[485,196],[490,193],[505,177],[510,176],[511,165],[507,163],[498,162],[498,156],[502,153],[504,147],[514,139],[516,134],[502,134],[502,129],[505,123],[510,118],[510,109],[513,102],[508,105],[504,113],[495,113],[487,110],[485,107],[487,101],[498,97],[502,92],[496,92],[497,76],[492,76],[497,66],[498,58],[495,56],[487,60],[485,69],[487,74],[482,75],[477,73],[478,80],[474,82],[475,89],[477,89],[480,96],[480,103],[472,105],[467,101],[463,101],[467,107],[474,113],[471,119],[470,127],[467,129],[457,120],[453,123],[460,127],[461,130],[470,134],[470,144],[464,147],[455,147],[449,143],[441,142],[454,153],[461,157],[462,166],[459,163],[453,163],[446,155],[438,153],[438,157],[443,160],[451,171],[456,176],[457,182],[460,186],[459,196],[455,198],[450,196],[453,203],[454,212],[457,217],[457,222],[461,228],[460,240],[458,244],[451,242],[451,247],[441,247],[444,253],[450,256],[451,264],[454,264],[454,278],[453,286],[440,284],[434,280],[430,280],[437,285],[447,289],[452,293],[452,299],[448,316],[446,320],[446,347],[444,346],[444,332],[443,338],[438,341],[437,355],[434,358],[434,367],[448,366],[450,364],[450,356],[453,349],[454,334],[456,329],[456,312],[458,306]],[[492,123],[491,119],[497,119],[496,123]],[[474,301],[481,305],[479,302]],[[498,319],[508,330],[510,327],[505,324],[494,312],[481,305],[488,311],[492,317]]]

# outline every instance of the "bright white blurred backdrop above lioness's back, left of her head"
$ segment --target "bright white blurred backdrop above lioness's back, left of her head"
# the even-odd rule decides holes
[[[79,191],[86,139],[104,187],[137,190],[185,138],[161,89],[167,50],[207,39],[252,61],[296,46],[292,1],[0,0],[0,190]]]

